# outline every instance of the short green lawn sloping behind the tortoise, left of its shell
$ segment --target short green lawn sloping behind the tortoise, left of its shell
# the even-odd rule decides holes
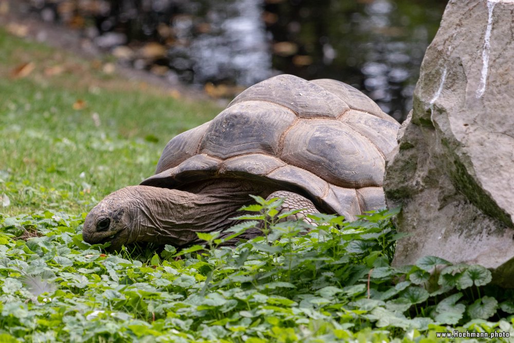
[[[7,214],[88,211],[104,195],[151,176],[170,138],[220,111],[5,31],[0,51],[0,194],[11,202],[0,210]],[[13,79],[11,71],[28,62],[34,70]],[[65,71],[45,75],[53,66]],[[85,107],[74,109],[77,101]]]

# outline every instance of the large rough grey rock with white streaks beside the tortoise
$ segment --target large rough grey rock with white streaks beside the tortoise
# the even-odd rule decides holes
[[[514,0],[452,0],[390,154],[394,263],[479,263],[514,287]]]

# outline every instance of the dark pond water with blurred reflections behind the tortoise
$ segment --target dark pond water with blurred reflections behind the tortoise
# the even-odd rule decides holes
[[[171,80],[249,86],[279,73],[333,78],[361,89],[400,121],[412,107],[419,65],[446,5],[445,0],[30,3],[45,20],[82,27],[99,46],[127,45],[135,51],[127,63],[160,66],[160,74]],[[148,42],[158,45],[141,53]]]

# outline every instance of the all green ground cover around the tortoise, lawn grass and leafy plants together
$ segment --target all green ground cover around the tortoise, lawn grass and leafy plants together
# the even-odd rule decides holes
[[[509,333],[512,291],[479,265],[391,266],[397,210],[281,222],[255,197],[223,247],[108,254],[82,240],[105,194],[151,175],[165,142],[219,109],[140,89],[94,63],[0,30],[0,342],[438,342]],[[19,63],[34,63],[13,77]],[[45,75],[65,65],[68,72]],[[70,85],[73,84],[74,87]],[[76,86],[75,86],[76,85]],[[80,101],[79,101],[80,100]],[[96,114],[96,115],[95,115]],[[253,212],[253,214],[252,214]],[[248,214],[250,213],[250,214]],[[20,238],[21,236],[21,238]],[[511,338],[494,338],[509,341]],[[490,341],[452,338],[451,341]]]

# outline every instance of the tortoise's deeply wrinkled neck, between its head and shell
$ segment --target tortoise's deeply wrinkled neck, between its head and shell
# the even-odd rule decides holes
[[[176,247],[201,243],[197,232],[223,231],[236,224],[237,210],[272,191],[241,181],[223,179],[188,186],[188,190],[136,186],[141,194],[137,240]]]

